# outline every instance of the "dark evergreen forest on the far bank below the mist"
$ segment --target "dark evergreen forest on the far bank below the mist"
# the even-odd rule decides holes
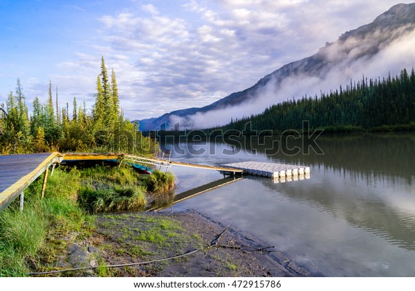
[[[225,130],[302,130],[309,121],[313,129],[325,132],[415,130],[415,72],[400,76],[352,82],[345,89],[321,96],[304,96],[265,109],[261,114],[232,119]]]

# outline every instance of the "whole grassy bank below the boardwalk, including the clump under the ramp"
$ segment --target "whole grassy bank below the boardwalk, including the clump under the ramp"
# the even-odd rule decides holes
[[[23,213],[17,201],[0,213],[0,276],[53,264],[68,241],[91,236],[93,213],[145,209],[148,197],[172,190],[174,177],[142,177],[128,167],[60,167],[48,178],[44,199],[42,182],[41,176],[25,190]]]

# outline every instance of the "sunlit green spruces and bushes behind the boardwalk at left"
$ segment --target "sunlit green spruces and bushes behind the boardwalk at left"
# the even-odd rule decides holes
[[[10,91],[6,104],[1,104],[0,154],[95,151],[151,155],[156,152],[156,142],[142,136],[138,125],[124,118],[116,73],[111,70],[109,76],[103,57],[91,113],[75,97],[71,109],[68,103],[59,107],[58,94],[53,96],[53,93],[49,82],[46,103],[42,104],[36,96],[33,114],[29,115],[24,90],[17,79],[16,91]]]

